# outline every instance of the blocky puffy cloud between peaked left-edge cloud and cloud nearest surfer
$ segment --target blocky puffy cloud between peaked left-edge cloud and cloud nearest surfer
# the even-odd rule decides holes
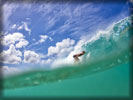
[[[42,55],[37,54],[34,51],[24,51],[24,63],[39,63]]]

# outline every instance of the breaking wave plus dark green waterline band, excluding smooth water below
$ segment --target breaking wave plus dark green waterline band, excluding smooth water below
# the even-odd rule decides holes
[[[4,88],[60,82],[63,79],[82,77],[129,62],[130,34],[133,31],[131,28],[132,17],[127,17],[112,24],[109,29],[98,32],[82,45],[82,48],[86,51],[82,64],[66,65],[53,70],[37,70],[6,77]]]

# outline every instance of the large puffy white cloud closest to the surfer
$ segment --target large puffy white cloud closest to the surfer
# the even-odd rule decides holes
[[[61,42],[57,42],[56,46],[50,46],[48,48],[48,56],[56,54],[57,56],[65,56],[73,49],[73,45],[75,44],[75,40],[71,40],[70,38],[64,39]]]

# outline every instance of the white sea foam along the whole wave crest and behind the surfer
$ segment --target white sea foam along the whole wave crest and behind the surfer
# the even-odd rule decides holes
[[[88,44],[88,43],[92,43],[92,42],[94,42],[94,41],[100,39],[101,37],[104,37],[104,38],[106,38],[106,39],[109,39],[110,36],[111,36],[112,34],[114,34],[113,28],[114,28],[115,25],[117,25],[117,24],[119,24],[119,25],[118,25],[118,30],[117,30],[117,32],[120,34],[121,32],[119,32],[119,31],[122,31],[122,27],[123,27],[123,28],[125,27],[125,26],[123,26],[123,23],[124,23],[124,25],[125,25],[126,22],[128,21],[128,23],[131,24],[130,18],[131,18],[131,16],[130,16],[130,17],[126,17],[126,18],[124,18],[124,19],[122,19],[122,20],[120,20],[120,21],[118,21],[118,22],[114,22],[114,23],[112,23],[106,30],[98,30],[98,31],[96,31],[97,34],[94,34],[94,35],[92,35],[92,36],[89,35],[88,37],[86,37],[86,36],[85,36],[85,37],[82,37],[82,39],[79,40],[79,42],[77,42],[77,44],[75,45],[74,50],[71,51],[67,57],[65,57],[65,58],[60,58],[60,59],[56,59],[56,60],[53,62],[52,68],[60,67],[60,66],[62,66],[62,65],[72,65],[72,64],[74,63],[73,55],[74,55],[74,54],[77,54],[77,53],[79,53],[79,52],[81,52],[81,51],[83,51],[83,48],[82,48],[83,45],[86,45],[86,44]],[[121,29],[120,29],[120,28],[121,28]],[[116,35],[116,34],[117,34],[117,33],[115,33],[115,35]],[[118,34],[118,35],[119,35],[119,34]],[[116,37],[116,38],[117,38],[117,37]],[[114,39],[115,39],[115,38],[114,38]],[[91,53],[88,51],[88,52],[87,52],[87,58],[88,58],[88,59],[89,59],[90,56],[91,56],[90,54],[91,54]],[[82,61],[82,59],[83,59],[83,58],[80,57],[80,61]]]

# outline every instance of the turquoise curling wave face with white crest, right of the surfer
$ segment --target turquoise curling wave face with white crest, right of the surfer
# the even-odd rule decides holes
[[[88,54],[91,61],[107,56],[121,55],[121,52],[129,48],[131,31],[131,17],[113,24],[107,31],[100,31],[95,36],[97,39],[93,38],[91,42],[83,45],[87,51],[85,59]]]

